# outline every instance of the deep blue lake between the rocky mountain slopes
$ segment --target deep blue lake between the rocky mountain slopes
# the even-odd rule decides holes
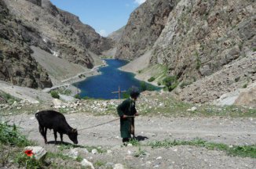
[[[87,77],[85,81],[80,81],[74,85],[81,90],[80,97],[90,97],[94,99],[119,99],[118,93],[112,93],[119,90],[127,91],[135,86],[141,88],[141,81],[134,78],[134,74],[119,70],[128,63],[119,59],[105,59],[107,67],[101,67],[100,75]],[[158,87],[147,84],[150,88],[158,90]],[[122,96],[122,95],[121,95]]]

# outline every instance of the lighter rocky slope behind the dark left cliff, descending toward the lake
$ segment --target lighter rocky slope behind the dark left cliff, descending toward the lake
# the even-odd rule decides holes
[[[19,24],[26,28],[27,45],[38,46],[53,56],[92,68],[90,51],[101,54],[112,48],[112,40],[103,38],[77,16],[57,9],[49,0],[3,0]]]

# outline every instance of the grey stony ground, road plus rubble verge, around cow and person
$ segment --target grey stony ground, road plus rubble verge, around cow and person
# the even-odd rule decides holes
[[[153,99],[152,99],[153,98]],[[86,159],[95,168],[254,168],[250,157],[230,156],[225,151],[206,147],[177,145],[167,142],[205,140],[216,144],[251,146],[256,142],[255,110],[236,106],[191,105],[170,99],[166,92],[144,92],[137,101],[136,136],[138,142],[123,146],[119,135],[116,106],[122,100],[55,99],[46,105],[15,102],[1,108],[1,120],[20,125],[27,138],[38,142],[49,152],[60,152],[77,159]],[[2,104],[6,105],[6,104]],[[45,145],[38,132],[35,112],[58,110],[64,113],[71,127],[79,130],[79,146],[53,144],[53,131],[48,131]],[[100,116],[101,115],[101,116]],[[105,122],[114,120],[108,124]],[[91,126],[103,124],[95,128]],[[90,128],[81,130],[82,128]],[[59,138],[58,138],[59,139]],[[154,146],[160,144],[162,145]],[[166,146],[164,146],[166,145]],[[79,167],[79,162],[60,160],[66,167]],[[90,168],[90,167],[89,167]]]

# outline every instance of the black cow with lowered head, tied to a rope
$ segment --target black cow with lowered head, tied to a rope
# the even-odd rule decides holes
[[[35,113],[35,117],[38,120],[39,131],[42,137],[45,139],[46,144],[46,133],[48,128],[53,129],[55,143],[57,143],[57,132],[60,133],[61,142],[63,142],[63,134],[65,134],[68,135],[72,142],[75,144],[78,143],[77,130],[68,125],[67,120],[62,113],[53,110],[43,110]]]

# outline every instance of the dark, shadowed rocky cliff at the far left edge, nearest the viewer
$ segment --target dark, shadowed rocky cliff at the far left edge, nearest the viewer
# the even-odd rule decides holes
[[[31,57],[23,31],[27,27],[9,15],[0,0],[0,80],[30,88],[51,87],[46,70]]]

